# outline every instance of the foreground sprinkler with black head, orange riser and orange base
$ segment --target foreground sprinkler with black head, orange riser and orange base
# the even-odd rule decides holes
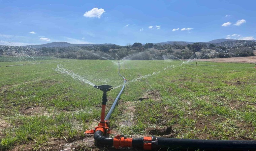
[[[94,134],[96,129],[97,130],[102,130],[106,133],[110,133],[110,131],[108,129],[109,128],[108,120],[104,120],[104,118],[105,118],[105,109],[106,109],[106,104],[107,104],[107,92],[110,91],[113,88],[112,88],[112,86],[109,86],[109,85],[101,85],[101,86],[96,86],[95,85],[94,88],[103,91],[102,103],[101,103],[100,123],[93,130],[87,130],[85,132],[85,134]]]

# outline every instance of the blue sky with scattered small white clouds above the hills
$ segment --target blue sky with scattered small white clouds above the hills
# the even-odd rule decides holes
[[[256,39],[254,0],[0,0],[0,45]]]

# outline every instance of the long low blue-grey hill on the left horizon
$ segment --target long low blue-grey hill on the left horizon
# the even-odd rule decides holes
[[[114,44],[70,44],[67,42],[53,42],[53,43],[47,43],[47,44],[42,44],[42,45],[27,45],[23,46],[26,48],[50,48],[50,47],[72,47],[72,46],[98,46],[98,45],[108,45],[112,46]]]

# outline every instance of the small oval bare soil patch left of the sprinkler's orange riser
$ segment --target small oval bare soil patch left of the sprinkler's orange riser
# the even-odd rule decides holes
[[[35,106],[35,107],[26,107],[20,109],[22,114],[26,115],[36,115],[36,114],[41,114],[41,115],[47,115],[48,113],[45,111],[45,107],[40,107],[40,106]]]

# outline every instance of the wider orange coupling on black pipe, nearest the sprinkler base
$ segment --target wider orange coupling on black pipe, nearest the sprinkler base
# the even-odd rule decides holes
[[[117,135],[114,138],[113,146],[116,149],[120,147],[132,147],[132,138],[126,138],[124,135]]]

